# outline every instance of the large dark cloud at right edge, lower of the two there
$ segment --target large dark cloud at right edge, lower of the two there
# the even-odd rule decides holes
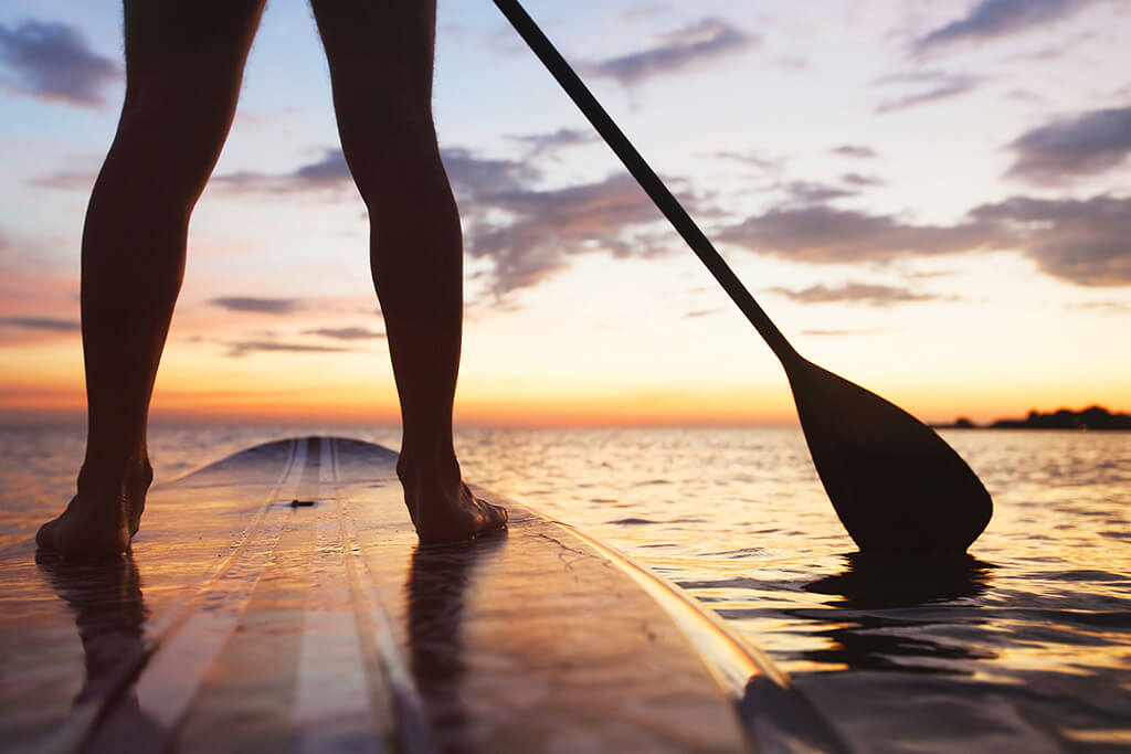
[[[1048,275],[1086,286],[1131,285],[1131,198],[1013,197],[969,216],[1007,228]]]

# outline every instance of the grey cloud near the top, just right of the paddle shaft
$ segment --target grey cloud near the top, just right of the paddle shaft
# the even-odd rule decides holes
[[[677,73],[706,60],[746,50],[759,40],[731,24],[705,18],[697,24],[657,37],[657,44],[641,52],[610,58],[588,68],[598,76],[629,86],[666,73]]]

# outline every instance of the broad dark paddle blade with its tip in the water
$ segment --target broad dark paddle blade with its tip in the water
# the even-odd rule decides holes
[[[934,430],[804,359],[786,373],[821,484],[861,552],[960,553],[982,534],[990,493]]]

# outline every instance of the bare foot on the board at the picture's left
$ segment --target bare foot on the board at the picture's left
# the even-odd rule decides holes
[[[75,561],[116,557],[129,552],[153,480],[148,461],[140,468],[106,477],[79,473],[78,494],[58,518],[35,535],[35,544]]]

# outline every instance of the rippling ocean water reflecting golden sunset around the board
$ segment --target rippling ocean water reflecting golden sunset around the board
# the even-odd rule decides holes
[[[156,426],[157,483],[267,440]],[[467,478],[689,590],[861,752],[1131,751],[1131,433],[951,431],[994,497],[969,557],[854,554],[798,430],[466,430]],[[78,427],[0,426],[0,546],[69,499]]]

